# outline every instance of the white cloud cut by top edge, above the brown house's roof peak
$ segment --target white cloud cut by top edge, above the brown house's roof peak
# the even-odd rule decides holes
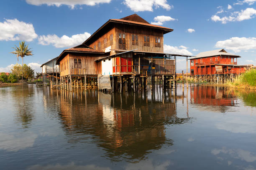
[[[166,10],[173,8],[173,5],[167,4],[166,0],[124,0],[123,3],[134,12],[153,11],[153,7]]]

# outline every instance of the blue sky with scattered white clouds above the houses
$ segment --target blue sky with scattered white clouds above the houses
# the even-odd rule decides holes
[[[42,63],[82,43],[108,19],[134,13],[174,29],[164,35],[167,53],[197,55],[224,48],[242,57],[238,64],[256,65],[256,0],[2,0],[0,72],[18,62],[10,52],[20,40],[34,53],[24,63],[39,71]],[[185,61],[178,59],[177,69],[184,69]]]

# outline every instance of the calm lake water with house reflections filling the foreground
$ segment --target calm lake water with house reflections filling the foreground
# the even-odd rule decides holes
[[[255,170],[256,92],[0,87],[0,170]]]

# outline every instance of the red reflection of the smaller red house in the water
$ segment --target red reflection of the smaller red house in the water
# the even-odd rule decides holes
[[[225,112],[225,106],[236,106],[237,97],[225,87],[194,86],[190,91],[191,103],[207,106],[219,106]],[[219,110],[219,109],[218,109]]]

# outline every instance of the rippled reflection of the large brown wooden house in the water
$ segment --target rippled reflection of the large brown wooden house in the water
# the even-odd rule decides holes
[[[152,150],[172,145],[165,125],[182,124],[173,100],[152,102],[136,94],[113,95],[96,90],[59,93],[59,117],[70,143],[95,143],[113,161],[142,160]],[[53,95],[56,96],[56,95]]]

